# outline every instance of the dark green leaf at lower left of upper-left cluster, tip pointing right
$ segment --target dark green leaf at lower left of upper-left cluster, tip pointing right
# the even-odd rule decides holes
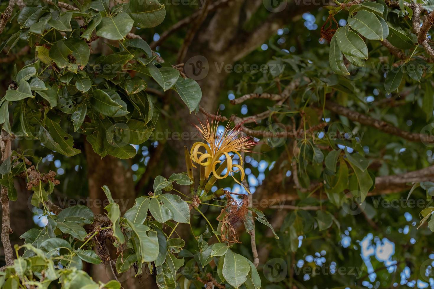
[[[58,122],[46,118],[45,124],[46,128],[41,126],[38,135],[44,146],[65,156],[75,156],[81,153],[81,150],[72,147],[72,136],[63,131]]]

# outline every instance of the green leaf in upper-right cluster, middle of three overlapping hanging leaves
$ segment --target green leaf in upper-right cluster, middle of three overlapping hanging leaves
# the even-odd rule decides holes
[[[358,58],[368,59],[368,48],[365,42],[349,28],[349,24],[338,28],[335,33],[336,42],[342,53]]]

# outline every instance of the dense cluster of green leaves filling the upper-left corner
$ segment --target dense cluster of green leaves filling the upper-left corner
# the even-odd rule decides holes
[[[0,107],[3,129],[65,156],[80,153],[69,134],[74,131],[84,134],[101,157],[127,159],[136,154],[129,144],[148,140],[158,118],[146,93],[150,81],[164,91],[173,88],[195,110],[202,97],[196,81],[158,62],[144,40],[126,39],[133,26],[151,28],[163,21],[164,5],[148,2],[109,8],[108,1],[91,1],[66,12],[37,1],[24,7],[16,19],[20,30],[6,43],[12,49],[17,37],[24,39],[36,58],[13,75]],[[113,41],[111,54],[91,53],[99,37]],[[22,117],[10,123],[9,110]]]

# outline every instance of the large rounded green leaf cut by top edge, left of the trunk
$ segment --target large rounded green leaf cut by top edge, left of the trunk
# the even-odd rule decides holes
[[[164,5],[153,1],[131,0],[127,13],[134,19],[134,26],[139,28],[152,28],[163,22],[166,16]],[[150,56],[149,56],[150,57]]]

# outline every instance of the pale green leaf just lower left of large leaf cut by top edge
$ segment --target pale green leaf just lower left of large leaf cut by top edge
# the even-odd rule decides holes
[[[96,29],[96,35],[110,40],[121,40],[131,31],[134,20],[127,13],[115,17],[102,17]]]

